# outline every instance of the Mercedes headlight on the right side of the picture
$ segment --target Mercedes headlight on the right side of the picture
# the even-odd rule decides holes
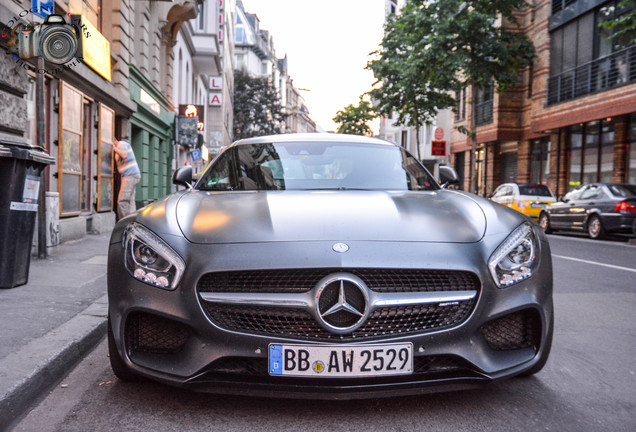
[[[499,288],[506,288],[532,276],[537,260],[537,238],[530,224],[515,229],[488,260],[490,273]]]

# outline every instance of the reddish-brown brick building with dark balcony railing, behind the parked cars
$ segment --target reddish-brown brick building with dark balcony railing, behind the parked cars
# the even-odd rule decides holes
[[[518,181],[561,196],[595,181],[636,183],[636,44],[598,26],[629,11],[618,3],[535,0],[517,13],[537,58],[512,91],[476,92],[476,182],[472,142],[453,131],[463,189],[485,195]],[[458,95],[455,126],[470,125],[471,96]]]

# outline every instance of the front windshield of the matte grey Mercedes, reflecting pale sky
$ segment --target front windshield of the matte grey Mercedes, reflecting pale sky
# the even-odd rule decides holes
[[[241,144],[221,154],[201,190],[435,190],[428,171],[404,149],[333,142]]]

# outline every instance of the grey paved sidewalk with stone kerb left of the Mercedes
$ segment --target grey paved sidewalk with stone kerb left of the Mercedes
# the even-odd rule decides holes
[[[31,258],[26,285],[0,289],[0,431],[106,335],[110,233]]]

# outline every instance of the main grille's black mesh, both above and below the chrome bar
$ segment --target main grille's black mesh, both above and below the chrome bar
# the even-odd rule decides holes
[[[470,272],[386,269],[311,269],[224,272],[205,275],[200,292],[302,293],[325,276],[347,272],[358,276],[376,292],[478,291],[479,280]],[[260,275],[260,277],[259,277]],[[232,331],[264,336],[317,341],[367,340],[420,333],[456,326],[470,315],[477,296],[465,301],[414,306],[389,306],[375,310],[366,322],[349,334],[325,330],[306,310],[247,306],[202,301],[208,317],[218,326]]]

